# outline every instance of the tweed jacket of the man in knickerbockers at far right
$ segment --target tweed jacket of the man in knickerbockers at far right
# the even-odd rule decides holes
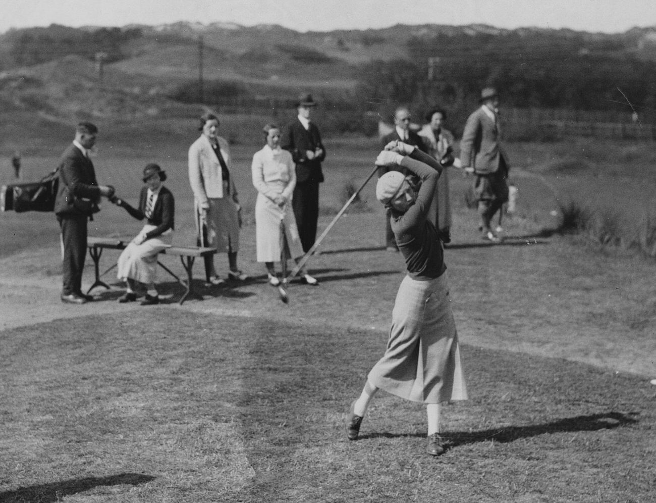
[[[498,120],[497,120],[498,123]],[[478,175],[489,175],[499,170],[501,158],[510,168],[508,156],[499,144],[501,131],[498,125],[478,108],[467,119],[460,141],[462,167],[472,166]]]

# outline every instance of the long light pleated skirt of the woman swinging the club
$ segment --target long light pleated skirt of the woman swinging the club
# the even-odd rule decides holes
[[[430,281],[405,276],[387,350],[369,372],[369,382],[413,402],[467,399],[446,273]]]

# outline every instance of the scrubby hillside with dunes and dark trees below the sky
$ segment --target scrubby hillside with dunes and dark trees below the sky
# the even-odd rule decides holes
[[[430,58],[436,66],[429,69]],[[647,110],[656,104],[654,71],[656,27],[604,34],[396,25],[300,33],[277,25],[178,22],[52,25],[0,35],[5,109],[64,120],[180,112],[174,99],[201,101],[201,75],[202,101],[210,106],[266,108],[310,89],[325,104],[359,114],[386,114],[397,102],[441,102],[454,111],[468,109],[478,89],[493,84],[510,89],[510,106],[617,108],[621,87]]]

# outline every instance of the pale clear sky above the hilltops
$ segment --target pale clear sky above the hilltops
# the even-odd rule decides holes
[[[280,24],[299,32],[394,24],[483,23],[586,32],[656,27],[656,0],[0,0],[0,32],[28,26],[125,26],[180,20]]]

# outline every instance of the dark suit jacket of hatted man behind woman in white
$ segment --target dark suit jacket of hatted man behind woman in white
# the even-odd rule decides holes
[[[306,183],[314,181],[323,182],[323,172],[321,171],[321,162],[325,159],[326,149],[321,142],[319,128],[310,122],[310,129],[306,130],[300,120],[295,119],[287,124],[280,146],[291,152],[291,157],[296,164],[296,183]],[[323,154],[309,160],[305,156],[306,150],[321,148]]]

